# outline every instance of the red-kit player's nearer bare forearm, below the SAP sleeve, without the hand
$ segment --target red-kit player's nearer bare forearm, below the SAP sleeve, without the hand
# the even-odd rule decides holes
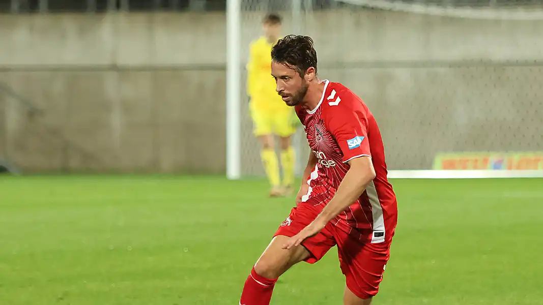
[[[368,161],[371,162],[369,157]],[[351,166],[340,183],[336,194],[323,208],[323,211],[318,215],[316,220],[328,223],[334,219],[362,195],[374,178],[375,171],[371,165],[367,166],[359,162],[357,166]]]

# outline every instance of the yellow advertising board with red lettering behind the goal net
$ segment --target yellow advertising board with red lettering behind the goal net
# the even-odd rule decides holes
[[[543,170],[543,151],[526,153],[441,153],[434,158],[438,170]]]

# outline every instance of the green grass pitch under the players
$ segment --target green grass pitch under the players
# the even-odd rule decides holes
[[[393,180],[399,224],[376,305],[543,304],[543,180]],[[0,177],[0,304],[238,304],[293,206],[266,182]],[[340,304],[332,249],[274,305]]]

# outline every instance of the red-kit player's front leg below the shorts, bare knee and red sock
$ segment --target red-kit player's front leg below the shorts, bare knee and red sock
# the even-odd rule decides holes
[[[271,240],[247,277],[239,304],[269,305],[277,278],[291,266],[310,256],[302,246],[290,250],[282,249],[286,239],[286,236],[276,236]]]

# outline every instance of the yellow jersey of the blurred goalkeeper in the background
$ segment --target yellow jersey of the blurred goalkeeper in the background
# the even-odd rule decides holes
[[[275,91],[275,80],[271,76],[272,46],[266,37],[251,42],[247,63],[247,94],[251,97],[251,107],[266,112],[292,110]]]

